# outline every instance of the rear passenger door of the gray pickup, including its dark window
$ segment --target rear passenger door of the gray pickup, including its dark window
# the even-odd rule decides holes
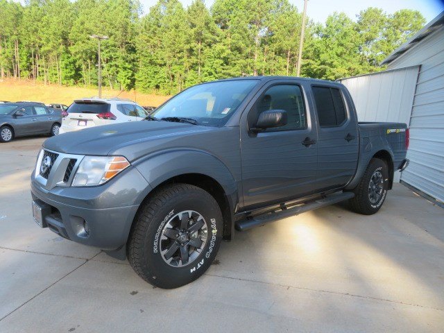
[[[312,85],[318,118],[316,189],[342,187],[355,175],[359,138],[355,112],[340,87]]]

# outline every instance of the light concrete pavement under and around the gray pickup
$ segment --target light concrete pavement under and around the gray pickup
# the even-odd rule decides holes
[[[443,332],[444,210],[402,185],[373,216],[334,205],[237,232],[166,291],[32,221],[43,141],[0,144],[2,333]]]

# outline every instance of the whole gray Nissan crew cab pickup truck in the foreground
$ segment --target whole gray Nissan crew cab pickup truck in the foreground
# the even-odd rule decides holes
[[[207,270],[234,228],[343,200],[374,214],[407,167],[408,142],[404,123],[358,123],[340,83],[219,80],[146,121],[47,139],[31,176],[33,216],[175,288]]]

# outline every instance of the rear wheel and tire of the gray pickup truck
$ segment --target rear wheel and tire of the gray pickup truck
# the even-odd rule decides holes
[[[349,200],[354,212],[364,215],[375,214],[384,203],[388,190],[388,168],[386,162],[373,158],[353,190],[355,198]]]

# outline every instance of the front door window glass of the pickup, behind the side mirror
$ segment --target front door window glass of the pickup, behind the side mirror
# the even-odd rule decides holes
[[[255,121],[266,110],[287,111],[287,124],[277,128],[267,128],[266,132],[278,130],[302,130],[306,128],[305,106],[298,85],[273,85],[266,90],[255,105]]]

